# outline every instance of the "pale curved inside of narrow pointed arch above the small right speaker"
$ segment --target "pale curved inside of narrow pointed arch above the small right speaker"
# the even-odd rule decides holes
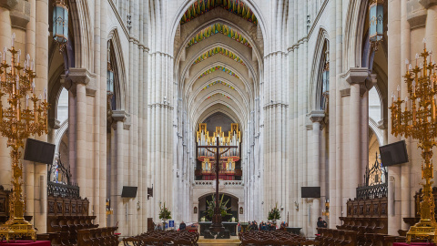
[[[311,77],[310,77],[310,100],[309,100],[309,108],[311,110],[320,110],[318,105],[320,105],[321,97],[319,94],[320,88],[322,87],[320,81],[320,70],[321,66],[321,57],[323,57],[323,47],[327,46],[329,50],[330,40],[328,32],[325,28],[320,27],[319,36],[317,38],[317,43],[314,49],[314,57],[312,59],[312,68],[311,68]]]

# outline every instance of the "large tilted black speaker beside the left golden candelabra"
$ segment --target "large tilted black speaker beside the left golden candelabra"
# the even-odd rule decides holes
[[[55,156],[55,145],[36,139],[27,138],[25,141],[25,160],[52,164]]]

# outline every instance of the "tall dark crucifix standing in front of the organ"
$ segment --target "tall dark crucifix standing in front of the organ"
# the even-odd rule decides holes
[[[198,146],[198,148],[206,148],[209,152],[216,155],[216,208],[214,208],[214,215],[212,216],[212,225],[209,228],[210,231],[224,231],[223,225],[221,224],[221,212],[219,208],[219,162],[220,157],[224,153],[226,153],[229,149],[236,149],[239,148],[238,146],[220,146],[219,144],[219,137],[217,137],[216,140],[216,146]],[[210,150],[210,149],[215,149]],[[220,149],[225,149],[220,153]]]

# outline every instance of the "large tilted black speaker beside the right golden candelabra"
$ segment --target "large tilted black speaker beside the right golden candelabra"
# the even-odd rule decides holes
[[[405,140],[380,147],[382,167],[408,162]]]

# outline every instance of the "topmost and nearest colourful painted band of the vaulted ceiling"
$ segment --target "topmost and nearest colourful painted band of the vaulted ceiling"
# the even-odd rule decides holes
[[[257,17],[250,10],[249,6],[245,5],[241,0],[198,0],[188,7],[188,10],[180,19],[180,25],[191,21],[198,17],[198,15],[205,14],[216,7],[222,7],[255,25],[258,24]]]

